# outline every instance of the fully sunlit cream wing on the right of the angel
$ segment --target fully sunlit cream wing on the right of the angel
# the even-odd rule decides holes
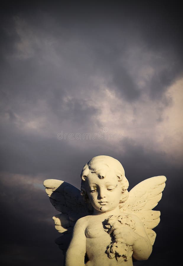
[[[132,188],[124,205],[124,212],[134,213],[143,222],[145,231],[154,244],[156,233],[152,230],[160,222],[160,211],[152,210],[161,200],[165,176],[148,178]]]

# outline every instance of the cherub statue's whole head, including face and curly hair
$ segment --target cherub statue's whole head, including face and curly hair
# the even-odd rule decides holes
[[[120,208],[128,198],[128,180],[122,164],[106,155],[92,158],[81,172],[81,194],[89,207],[109,211]],[[92,205],[92,206],[91,206]]]

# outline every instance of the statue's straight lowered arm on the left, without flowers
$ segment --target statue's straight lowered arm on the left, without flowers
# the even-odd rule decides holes
[[[86,254],[86,236],[85,236],[85,223],[83,218],[77,220],[72,240],[66,252],[65,266],[85,265]]]

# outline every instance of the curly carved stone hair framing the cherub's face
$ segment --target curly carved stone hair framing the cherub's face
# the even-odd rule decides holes
[[[107,170],[113,169],[114,173],[116,174],[116,178],[121,183],[122,192],[121,198],[119,201],[119,208],[125,205],[126,200],[128,199],[129,192],[128,192],[128,180],[124,174],[124,168],[122,164],[114,159],[113,157],[106,156],[106,155],[99,155],[93,157],[85,166],[82,168],[81,172],[81,195],[84,197],[85,202],[88,204],[88,207],[91,209],[93,208],[90,204],[88,195],[85,189],[85,180],[88,177],[88,174],[96,173],[99,179],[104,179],[107,173]]]

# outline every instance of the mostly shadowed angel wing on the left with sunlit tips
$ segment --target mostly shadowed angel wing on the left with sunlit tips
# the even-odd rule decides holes
[[[57,179],[47,179],[43,185],[50,197],[51,204],[57,211],[61,212],[53,217],[55,228],[61,233],[61,236],[55,242],[65,253],[76,221],[83,216],[89,215],[90,210],[84,202],[80,190],[75,186]]]

